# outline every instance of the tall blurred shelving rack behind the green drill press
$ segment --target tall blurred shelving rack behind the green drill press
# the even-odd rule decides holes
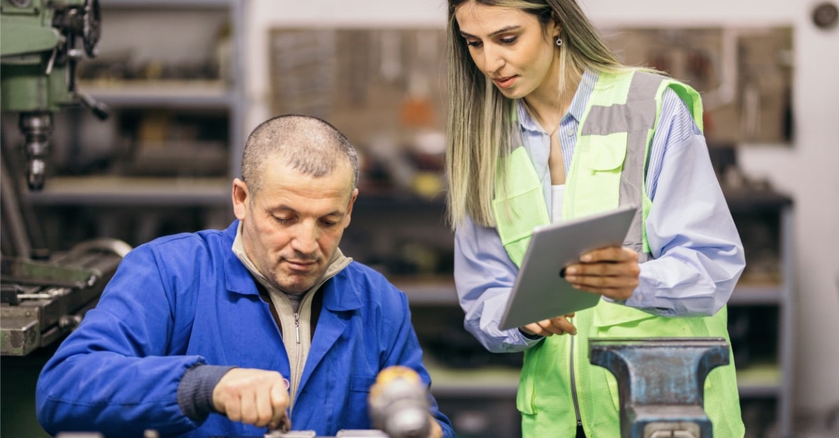
[[[50,176],[24,196],[43,219],[46,246],[91,234],[137,245],[226,226],[244,143],[244,2],[100,5],[99,53],[80,62],[78,76],[110,117],[55,114]]]

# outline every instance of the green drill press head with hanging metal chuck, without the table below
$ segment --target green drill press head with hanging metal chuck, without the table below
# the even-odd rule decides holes
[[[25,137],[27,183],[40,190],[46,176],[52,113],[84,104],[97,117],[107,108],[76,88],[76,63],[96,55],[97,0],[0,0],[0,101],[18,112]]]

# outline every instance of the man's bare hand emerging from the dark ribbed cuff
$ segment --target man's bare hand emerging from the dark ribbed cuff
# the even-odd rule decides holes
[[[289,381],[280,373],[251,368],[233,368],[216,384],[212,403],[219,414],[233,421],[258,427],[290,428]]]

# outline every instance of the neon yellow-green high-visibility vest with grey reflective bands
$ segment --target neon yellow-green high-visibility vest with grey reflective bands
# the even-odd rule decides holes
[[[642,206],[624,242],[650,258],[644,222],[651,206],[646,161],[666,89],[674,90],[702,128],[699,94],[678,81],[647,72],[601,73],[583,114],[565,181],[563,219],[618,206]],[[509,257],[520,265],[533,229],[550,222],[534,164],[523,147],[501,164],[493,200],[496,227]],[[502,185],[506,183],[506,187]],[[576,336],[549,336],[524,353],[516,404],[525,438],[574,436],[577,413],[589,438],[620,436],[618,383],[606,368],[591,365],[591,337],[719,336],[728,340],[727,308],[709,317],[664,317],[607,300],[576,313]],[[729,341],[730,345],[730,341]],[[733,353],[705,382],[704,404],[716,438],[744,435]]]

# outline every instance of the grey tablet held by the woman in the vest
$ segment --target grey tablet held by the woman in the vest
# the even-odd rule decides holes
[[[574,289],[560,271],[593,249],[622,246],[636,206],[536,227],[501,318],[502,330],[597,305],[601,295]]]

